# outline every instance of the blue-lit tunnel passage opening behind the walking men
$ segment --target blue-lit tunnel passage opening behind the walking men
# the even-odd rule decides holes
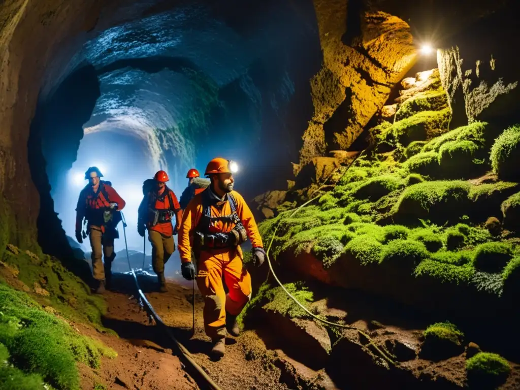
[[[305,3],[297,17],[289,1],[134,9],[138,16],[116,25],[103,14],[105,30],[68,61],[64,46],[52,62],[61,70],[46,71],[29,141],[44,252],[71,255],[89,165],[105,168],[103,179],[127,201],[131,249],[142,247],[140,185],[160,168],[179,196],[187,170],[203,171],[216,156],[239,163],[236,189],[246,199],[285,187],[313,109],[308,80],[321,64],[313,3]]]

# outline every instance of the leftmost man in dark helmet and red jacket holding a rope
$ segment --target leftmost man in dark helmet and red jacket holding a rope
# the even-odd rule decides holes
[[[121,210],[126,202],[106,181],[95,166],[85,172],[88,184],[80,192],[76,206],[76,240],[80,244],[88,235],[92,247],[92,269],[96,280],[96,293],[105,291],[112,277],[112,262],[115,258],[114,239],[119,238],[116,229],[121,221]],[[83,218],[87,224],[82,237]],[[103,266],[102,257],[105,257]]]

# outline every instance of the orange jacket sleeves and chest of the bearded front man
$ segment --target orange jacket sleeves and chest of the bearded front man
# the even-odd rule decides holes
[[[210,191],[211,189],[207,189]],[[237,214],[242,221],[242,225],[244,225],[245,230],[248,233],[248,237],[253,244],[253,248],[263,248],[262,238],[260,237],[260,233],[258,232],[258,227],[256,226],[255,218],[253,217],[253,213],[249,209],[248,205],[245,203],[244,198],[236,192],[231,191],[233,198],[237,203]],[[192,231],[199,224],[200,218],[203,213],[202,206],[202,197],[204,193],[197,194],[191,201],[188,203],[186,210],[183,213],[183,222],[180,224],[179,229],[179,238],[178,238],[178,247],[180,254],[181,262],[190,262],[191,261],[191,239],[192,239]],[[225,215],[231,214],[231,206],[229,202],[222,202],[222,204],[212,205],[211,206],[211,216],[212,217],[221,217]],[[235,224],[225,223],[218,221],[214,226],[210,227],[210,231],[213,233],[222,232],[228,233],[231,229],[235,227]],[[204,250],[206,251],[206,250]],[[222,250],[216,250],[218,252],[222,252]],[[240,246],[238,247],[238,251],[241,254]]]

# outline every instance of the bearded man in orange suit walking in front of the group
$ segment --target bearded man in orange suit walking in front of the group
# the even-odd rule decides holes
[[[204,175],[210,177],[211,185],[186,207],[178,238],[183,277],[197,278],[204,295],[204,329],[212,339],[211,352],[216,358],[224,356],[227,332],[238,336],[237,316],[251,299],[251,276],[242,263],[240,244],[249,237],[254,265],[261,266],[266,257],[253,214],[242,196],[233,191],[235,180],[229,163],[216,158],[207,164]]]

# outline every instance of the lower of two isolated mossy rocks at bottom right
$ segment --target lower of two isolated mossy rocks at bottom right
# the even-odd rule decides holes
[[[511,367],[498,354],[479,352],[466,360],[467,381],[470,388],[495,388],[505,382]]]

